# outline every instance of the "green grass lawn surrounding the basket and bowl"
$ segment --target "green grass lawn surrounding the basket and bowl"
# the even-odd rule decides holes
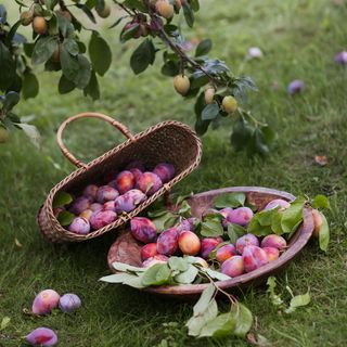
[[[11,0],[10,21],[15,22]],[[333,62],[346,49],[346,1],[233,0],[202,1],[195,30],[190,37],[210,37],[211,55],[223,59],[236,73],[256,80],[259,92],[249,100],[254,113],[279,132],[272,155],[250,160],[229,145],[228,121],[203,139],[200,168],[175,189],[200,192],[229,185],[262,185],[292,192],[331,195],[333,206],[327,254],[312,241],[279,277],[278,291],[288,298],[309,288],[311,304],[290,316],[271,306],[265,288],[249,288],[241,299],[255,317],[253,332],[271,346],[347,346],[346,204],[347,204],[347,70]],[[106,25],[105,25],[106,28]],[[54,246],[36,224],[36,213],[49,190],[74,167],[61,155],[54,134],[69,115],[99,111],[138,132],[160,120],[194,124],[192,101],[182,102],[171,80],[155,64],[136,77],[129,68],[130,42],[123,49],[118,31],[105,30],[114,51],[112,69],[102,79],[102,99],[92,102],[76,91],[57,94],[57,76],[40,74],[40,95],[22,102],[17,113],[35,115],[42,134],[37,151],[23,133],[0,146],[0,321],[11,318],[0,332],[0,346],[20,346],[21,337],[37,326],[59,334],[60,346],[246,346],[244,340],[196,340],[187,336],[184,323],[191,304],[165,301],[128,287],[106,285],[98,279],[108,273],[106,254],[116,233],[82,244]],[[260,47],[265,57],[243,63],[249,47]],[[296,78],[306,83],[303,95],[287,97],[286,85]],[[273,82],[279,85],[273,88]],[[66,144],[89,160],[121,141],[107,125],[86,120],[66,131]],[[314,155],[326,155],[319,167]],[[22,247],[15,244],[18,240]],[[26,316],[35,293],[43,288],[74,292],[82,309],[38,319]],[[165,326],[169,322],[171,327]]]

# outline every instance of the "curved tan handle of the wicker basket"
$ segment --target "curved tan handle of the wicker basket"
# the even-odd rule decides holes
[[[118,129],[127,139],[133,140],[133,136],[131,134],[130,130],[126,126],[124,126],[121,123],[102,113],[86,112],[86,113],[79,113],[78,115],[68,117],[66,120],[64,120],[61,124],[61,126],[57,129],[56,142],[62,153],[66,156],[66,158],[77,167],[87,167],[87,164],[78,160],[70,152],[68,152],[68,150],[66,149],[63,142],[62,136],[67,125],[80,118],[99,118],[99,119],[105,120],[110,123],[112,126],[114,126],[116,129]]]

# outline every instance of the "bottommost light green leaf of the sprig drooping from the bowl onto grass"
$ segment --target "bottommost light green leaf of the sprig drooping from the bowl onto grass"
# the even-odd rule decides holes
[[[226,337],[231,335],[236,326],[236,320],[230,312],[217,316],[201,330],[198,337]]]

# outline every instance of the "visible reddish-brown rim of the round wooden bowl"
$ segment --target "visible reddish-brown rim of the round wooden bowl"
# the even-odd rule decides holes
[[[295,200],[295,196],[291,193],[284,191],[278,191],[274,189],[262,188],[262,187],[231,187],[231,188],[221,188],[217,190],[210,190],[202,193],[197,193],[192,195],[190,198],[194,200],[196,197],[204,197],[207,195],[218,195],[227,192],[244,192],[244,193],[254,193],[254,192],[261,192],[265,194],[271,195],[279,195],[287,201]],[[305,207],[304,208],[304,216],[303,222],[294,233],[290,241],[290,247],[278,259],[252,271],[248,273],[241,274],[236,278],[226,281],[216,281],[216,285],[218,285],[221,290],[231,290],[236,287],[242,287],[245,284],[252,283],[257,279],[261,279],[266,275],[271,275],[273,272],[282,269],[286,266],[293,258],[298,255],[301,249],[306,246],[308,241],[310,240],[313,233],[314,224],[313,224],[313,217],[311,213],[311,208]],[[129,233],[128,231],[125,234]],[[118,239],[117,239],[118,240]],[[117,241],[116,241],[117,242]],[[116,244],[116,242],[112,245],[112,247]],[[111,247],[111,248],[112,248]],[[110,248],[110,250],[111,250]],[[110,254],[110,253],[108,253]],[[110,264],[108,264],[110,266]],[[115,271],[113,271],[115,273]],[[146,287],[141,291],[158,294],[163,296],[169,297],[189,297],[189,296],[196,296],[201,294],[206,287],[208,283],[202,284],[177,284],[177,285],[162,285],[156,287]]]

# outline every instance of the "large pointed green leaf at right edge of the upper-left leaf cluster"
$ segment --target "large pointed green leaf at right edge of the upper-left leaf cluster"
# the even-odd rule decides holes
[[[95,73],[103,76],[111,66],[112,52],[108,43],[95,31],[89,42],[89,56]]]

